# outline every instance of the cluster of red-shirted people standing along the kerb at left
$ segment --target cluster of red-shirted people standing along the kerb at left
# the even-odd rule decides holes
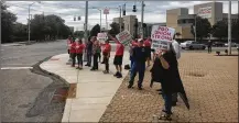
[[[67,38],[68,54],[72,60],[72,67],[75,67],[77,58],[77,69],[83,69],[83,53],[87,55],[87,64],[85,66],[93,67],[90,70],[98,70],[98,64],[101,59],[101,54],[104,56],[101,64],[105,64],[104,74],[109,74],[109,58],[111,52],[111,45],[109,44],[110,40],[113,40],[117,44],[116,54],[113,59],[113,65],[116,66],[117,72],[113,75],[117,78],[122,78],[122,58],[124,46],[111,35],[108,35],[109,38],[105,43],[97,41],[96,36],[91,36],[87,43],[83,43],[82,40],[73,40],[72,36]],[[85,52],[84,52],[85,51]],[[93,62],[91,62],[93,59]]]

